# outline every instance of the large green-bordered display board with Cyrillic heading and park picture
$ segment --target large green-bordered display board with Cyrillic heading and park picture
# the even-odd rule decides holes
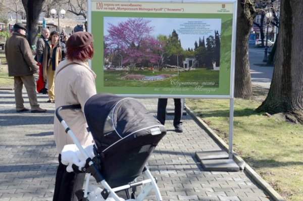
[[[89,1],[97,92],[232,98],[236,1]]]

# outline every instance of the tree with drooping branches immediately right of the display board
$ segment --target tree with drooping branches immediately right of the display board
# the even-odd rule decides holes
[[[275,4],[274,4],[275,2]],[[276,16],[277,3],[280,0],[238,0],[237,33],[236,33],[236,60],[235,60],[235,97],[251,98],[252,88],[250,67],[248,60],[248,35],[254,18],[261,14],[260,31],[263,35],[263,21],[265,12],[271,10],[273,18],[271,24],[278,25]],[[255,23],[256,24],[256,23]],[[264,43],[263,43],[264,44]]]

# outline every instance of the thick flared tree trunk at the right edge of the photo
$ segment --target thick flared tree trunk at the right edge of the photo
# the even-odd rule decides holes
[[[303,1],[281,1],[275,68],[269,93],[256,109],[270,114],[285,112],[303,123]]]

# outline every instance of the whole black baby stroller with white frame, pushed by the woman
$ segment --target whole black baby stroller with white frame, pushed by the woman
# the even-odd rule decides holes
[[[104,187],[101,195],[121,200],[116,192],[125,191],[126,200],[143,200],[154,189],[157,200],[162,200],[159,188],[145,163],[158,142],[166,134],[165,127],[134,98],[109,93],[95,94],[84,106],[84,115],[94,139],[94,157],[87,153],[60,115],[61,110],[80,110],[80,105],[62,106],[56,116],[73,139],[86,164],[78,168],[91,174]],[[74,167],[73,167],[74,169]],[[145,173],[142,181],[136,178]],[[86,177],[82,200],[88,197],[89,176]],[[136,187],[141,186],[136,195]],[[129,189],[132,190],[131,196]]]

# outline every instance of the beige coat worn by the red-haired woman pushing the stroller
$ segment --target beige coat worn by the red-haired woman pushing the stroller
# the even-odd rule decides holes
[[[62,67],[72,62],[77,64],[71,64],[60,71]],[[60,72],[58,73],[58,71]],[[63,110],[60,114],[80,143],[85,146],[92,144],[92,136],[86,129],[83,108],[86,100],[96,94],[94,79],[94,72],[87,63],[81,61],[62,61],[55,72],[56,109],[66,105],[81,105],[82,111]],[[54,135],[59,154],[61,154],[64,145],[74,143],[56,116]]]

